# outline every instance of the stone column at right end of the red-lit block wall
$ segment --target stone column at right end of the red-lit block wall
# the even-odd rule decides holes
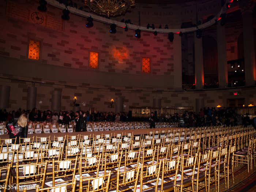
[[[181,37],[174,34],[173,47],[175,49],[174,64],[174,90],[182,90],[182,52],[181,52]]]

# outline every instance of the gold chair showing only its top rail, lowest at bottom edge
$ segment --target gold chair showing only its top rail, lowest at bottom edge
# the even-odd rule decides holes
[[[62,185],[58,185],[55,187],[47,187],[47,188],[40,188],[39,185],[36,185],[35,187],[35,192],[66,192],[68,188],[71,188],[71,192],[75,192],[75,187],[76,187],[76,179],[73,182],[67,182]],[[26,192],[23,189],[23,192]]]

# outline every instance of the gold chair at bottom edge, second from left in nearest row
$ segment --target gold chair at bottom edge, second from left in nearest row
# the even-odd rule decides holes
[[[79,192],[108,192],[111,171],[102,176],[91,176],[89,178],[79,178]]]

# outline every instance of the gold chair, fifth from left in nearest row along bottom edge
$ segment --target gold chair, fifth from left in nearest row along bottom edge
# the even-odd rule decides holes
[[[159,179],[159,182],[161,183],[158,183],[157,187],[158,192],[169,192],[174,190],[174,180],[176,179],[179,163],[180,157],[168,161],[163,160],[161,180]],[[181,176],[179,178],[181,179]]]

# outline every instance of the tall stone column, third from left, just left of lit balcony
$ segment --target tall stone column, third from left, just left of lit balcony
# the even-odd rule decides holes
[[[218,22],[217,24],[217,46],[218,46],[219,88],[225,88],[228,85],[226,30],[225,30],[225,26],[221,26],[221,22]]]

